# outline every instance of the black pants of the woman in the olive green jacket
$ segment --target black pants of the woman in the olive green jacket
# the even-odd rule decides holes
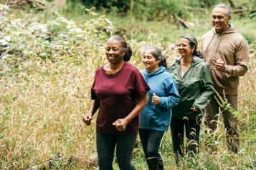
[[[176,157],[184,156],[184,126],[186,131],[186,151],[189,153],[199,152],[199,133],[201,119],[188,120],[171,118],[171,137]]]

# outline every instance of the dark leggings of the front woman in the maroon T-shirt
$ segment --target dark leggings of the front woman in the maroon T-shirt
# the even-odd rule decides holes
[[[121,136],[96,134],[97,153],[100,170],[113,170],[112,162],[116,146],[116,157],[120,170],[135,170],[131,163],[137,135]]]

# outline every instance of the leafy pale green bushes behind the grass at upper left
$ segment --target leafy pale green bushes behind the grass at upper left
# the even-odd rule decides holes
[[[82,53],[87,56],[86,49],[103,46],[103,41],[113,31],[113,25],[105,16],[80,26],[63,16],[45,23],[27,23],[24,19],[11,21],[1,16],[0,30],[0,67],[4,74],[4,71],[29,69],[29,64],[24,62],[22,66],[21,63],[31,57],[56,60],[65,55],[73,56],[81,48],[85,48]]]

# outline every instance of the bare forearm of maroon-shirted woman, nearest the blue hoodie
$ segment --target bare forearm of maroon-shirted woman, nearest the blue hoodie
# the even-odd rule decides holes
[[[138,101],[138,104],[136,105],[136,107],[131,111],[130,114],[128,114],[128,116],[125,117],[125,119],[128,121],[128,123],[133,120],[136,116],[138,116],[138,114],[141,113],[141,111],[143,110],[144,106],[146,106],[146,104],[148,103],[148,94],[141,94],[141,97]]]

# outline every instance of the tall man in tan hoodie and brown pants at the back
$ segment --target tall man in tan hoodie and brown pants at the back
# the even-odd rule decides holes
[[[229,25],[230,19],[229,6],[215,6],[212,11],[214,28],[202,36],[202,53],[211,68],[214,89],[223,99],[227,99],[229,104],[219,106],[215,97],[212,97],[204,109],[204,123],[214,131],[217,128],[220,109],[227,131],[227,146],[237,153],[240,148],[240,126],[232,112],[237,111],[239,76],[247,72],[249,50],[245,38]],[[217,97],[216,94],[215,96]]]

